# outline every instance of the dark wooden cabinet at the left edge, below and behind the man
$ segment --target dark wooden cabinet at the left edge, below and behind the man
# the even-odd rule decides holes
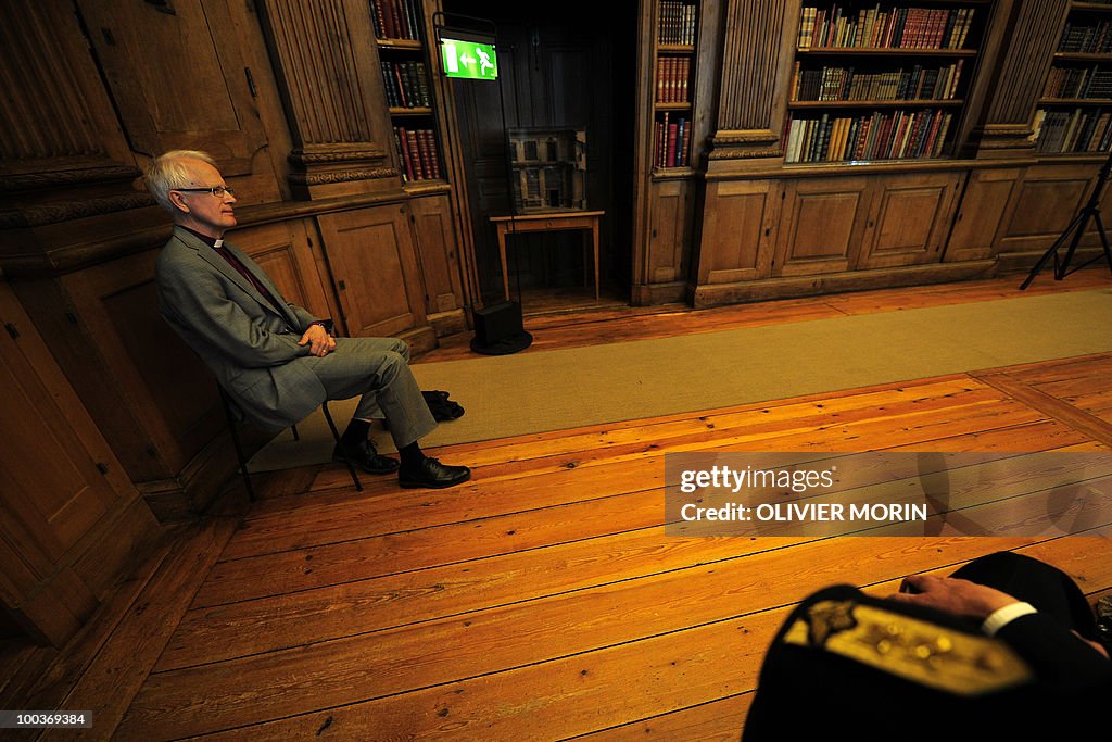
[[[0,321],[0,600],[33,639],[61,645],[158,528],[2,283]]]

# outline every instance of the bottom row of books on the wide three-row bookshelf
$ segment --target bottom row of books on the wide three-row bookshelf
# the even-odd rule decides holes
[[[881,112],[858,117],[793,118],[787,162],[920,159],[942,155],[953,121],[949,111]]]

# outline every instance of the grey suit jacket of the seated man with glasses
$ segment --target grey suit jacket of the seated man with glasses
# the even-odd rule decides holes
[[[252,423],[281,428],[325,402],[308,346],[297,343],[316,321],[282,298],[266,273],[225,243],[281,305],[277,309],[203,240],[181,227],[155,268],[159,309],[212,370]]]

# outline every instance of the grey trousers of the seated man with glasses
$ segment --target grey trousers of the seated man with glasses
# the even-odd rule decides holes
[[[336,350],[324,358],[310,356],[329,399],[361,395],[354,417],[386,417],[398,448],[428,435],[436,419],[409,369],[409,346],[391,337],[338,337]],[[304,363],[304,362],[302,362]]]

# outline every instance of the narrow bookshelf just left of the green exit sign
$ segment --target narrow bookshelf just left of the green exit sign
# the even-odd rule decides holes
[[[370,8],[401,179],[444,180],[421,0],[371,0]]]

